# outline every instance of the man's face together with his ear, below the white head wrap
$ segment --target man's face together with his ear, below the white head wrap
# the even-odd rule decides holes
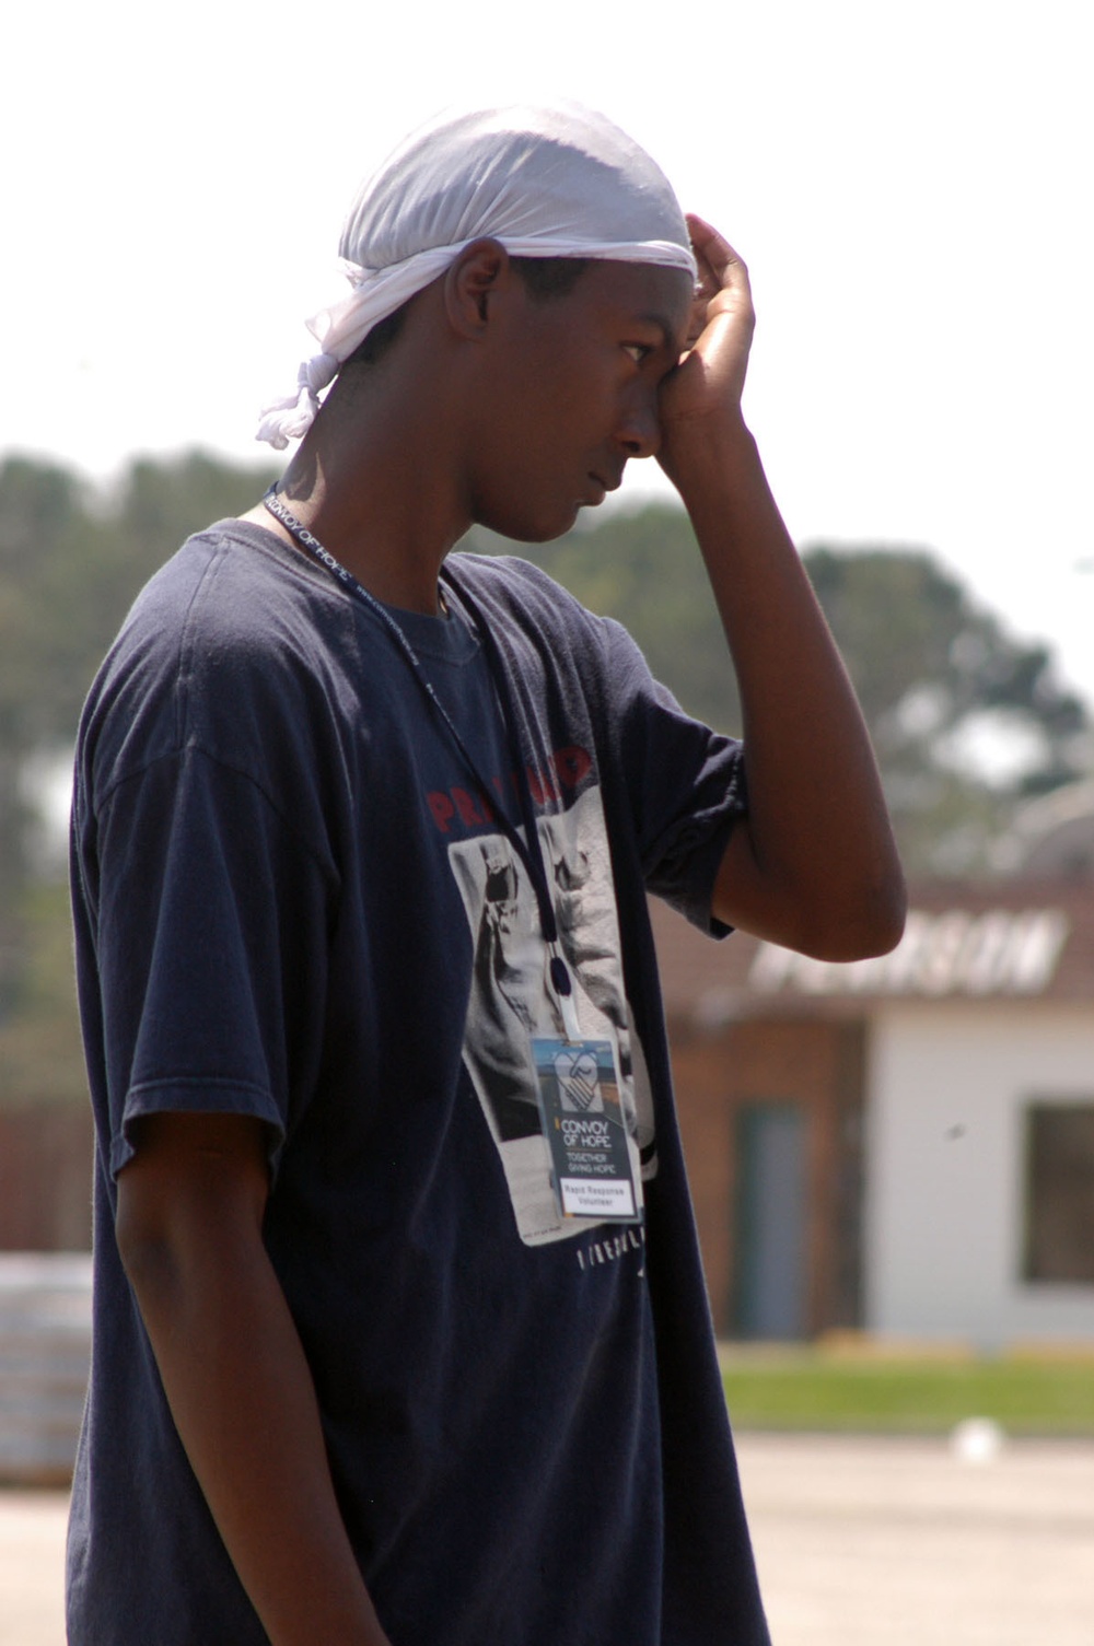
[[[659,392],[687,337],[684,270],[590,258],[544,296],[478,240],[420,301],[404,360],[446,397],[471,520],[547,542],[615,491],[629,458],[659,449]]]

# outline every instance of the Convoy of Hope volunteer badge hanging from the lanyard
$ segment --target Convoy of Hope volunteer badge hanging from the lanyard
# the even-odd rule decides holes
[[[611,1040],[532,1040],[550,1182],[563,1218],[643,1221],[638,1142],[629,1136]]]

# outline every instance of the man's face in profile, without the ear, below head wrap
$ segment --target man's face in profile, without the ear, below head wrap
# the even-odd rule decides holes
[[[659,446],[657,392],[680,357],[692,281],[677,268],[591,262],[568,296],[535,301],[512,273],[488,344],[470,451],[473,518],[542,543]]]

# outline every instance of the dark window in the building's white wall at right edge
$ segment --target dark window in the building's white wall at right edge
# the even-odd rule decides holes
[[[1026,1109],[1023,1279],[1094,1286],[1094,1103]]]

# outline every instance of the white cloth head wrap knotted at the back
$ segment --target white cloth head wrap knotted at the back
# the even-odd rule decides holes
[[[302,364],[293,395],[264,407],[257,439],[283,451],[303,435],[369,331],[483,235],[512,257],[697,272],[667,178],[605,115],[570,102],[446,112],[358,191],[339,247],[353,291],[308,321],[320,352]]]

